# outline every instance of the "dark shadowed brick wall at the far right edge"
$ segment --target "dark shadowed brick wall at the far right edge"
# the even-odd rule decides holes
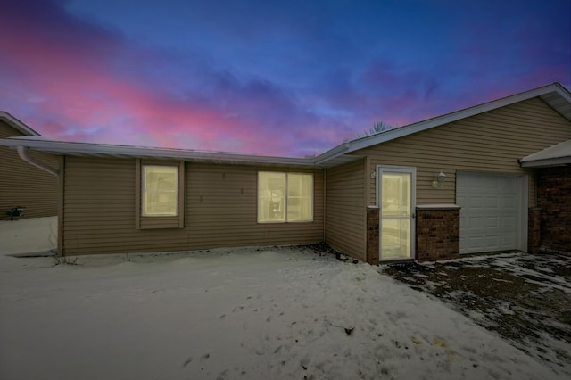
[[[539,169],[541,250],[571,254],[571,167]]]

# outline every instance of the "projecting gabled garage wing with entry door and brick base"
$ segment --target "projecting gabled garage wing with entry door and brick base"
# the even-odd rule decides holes
[[[410,244],[407,250],[415,252],[417,260],[528,251],[528,214],[538,206],[539,178],[519,160],[569,139],[570,104],[567,90],[551,85],[352,141],[343,147],[345,154],[362,160],[330,171],[351,172],[362,185],[349,197],[343,191],[334,194],[335,185],[327,181],[327,197],[347,209],[336,219],[327,214],[326,230],[346,231],[352,225],[353,233],[326,235],[326,241],[374,263],[377,254],[379,260],[409,257],[407,252],[391,252],[392,246],[404,245],[397,239]],[[441,172],[443,185],[433,186]],[[390,182],[409,180],[414,186],[402,185],[399,191],[415,207],[393,215],[388,210],[393,200],[383,199],[384,189],[394,198],[399,194],[388,187]],[[367,211],[356,204],[349,207],[348,200],[357,197],[369,206]],[[360,225],[343,223],[347,215]],[[565,229],[569,235],[569,227]],[[390,234],[384,247],[383,236]]]

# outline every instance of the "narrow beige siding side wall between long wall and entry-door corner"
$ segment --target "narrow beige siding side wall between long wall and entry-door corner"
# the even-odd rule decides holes
[[[365,160],[327,169],[326,242],[365,260]]]

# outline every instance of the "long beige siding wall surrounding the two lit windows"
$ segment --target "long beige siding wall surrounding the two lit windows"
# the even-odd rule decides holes
[[[185,226],[136,229],[135,160],[66,157],[65,166],[65,255],[323,241],[321,170],[309,171],[314,173],[313,222],[258,224],[258,170],[267,168],[188,162]]]

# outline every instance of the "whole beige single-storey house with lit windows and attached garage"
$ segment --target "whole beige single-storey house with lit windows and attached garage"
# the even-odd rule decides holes
[[[62,256],[326,242],[377,264],[568,252],[569,227],[551,216],[570,212],[569,162],[534,160],[567,140],[571,95],[553,84],[305,159],[23,137],[0,145],[59,157]],[[552,181],[563,183],[559,195]]]

